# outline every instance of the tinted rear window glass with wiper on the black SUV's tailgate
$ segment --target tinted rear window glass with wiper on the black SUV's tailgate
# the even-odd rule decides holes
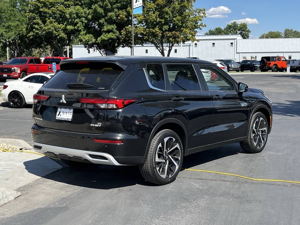
[[[73,90],[109,90],[122,72],[122,68],[113,63],[68,63],[61,65],[61,70],[44,87]],[[68,83],[88,84],[93,85],[93,87],[68,88]]]

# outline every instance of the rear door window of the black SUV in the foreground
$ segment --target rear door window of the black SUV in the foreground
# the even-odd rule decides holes
[[[173,91],[201,91],[192,64],[167,64],[166,66]]]

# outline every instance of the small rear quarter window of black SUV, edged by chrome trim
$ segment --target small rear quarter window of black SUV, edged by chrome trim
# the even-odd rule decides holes
[[[146,71],[153,87],[166,90],[162,64],[147,64]]]

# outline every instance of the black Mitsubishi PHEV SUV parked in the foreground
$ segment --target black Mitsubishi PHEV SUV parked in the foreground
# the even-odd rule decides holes
[[[207,61],[104,56],[59,66],[34,95],[32,146],[69,165],[139,165],[147,181],[167,184],[184,156],[234,142],[261,152],[271,131],[265,93]]]

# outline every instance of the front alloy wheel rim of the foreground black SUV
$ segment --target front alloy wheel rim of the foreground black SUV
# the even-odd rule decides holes
[[[267,137],[267,123],[262,117],[256,119],[252,128],[252,141],[257,149],[264,146]]]

